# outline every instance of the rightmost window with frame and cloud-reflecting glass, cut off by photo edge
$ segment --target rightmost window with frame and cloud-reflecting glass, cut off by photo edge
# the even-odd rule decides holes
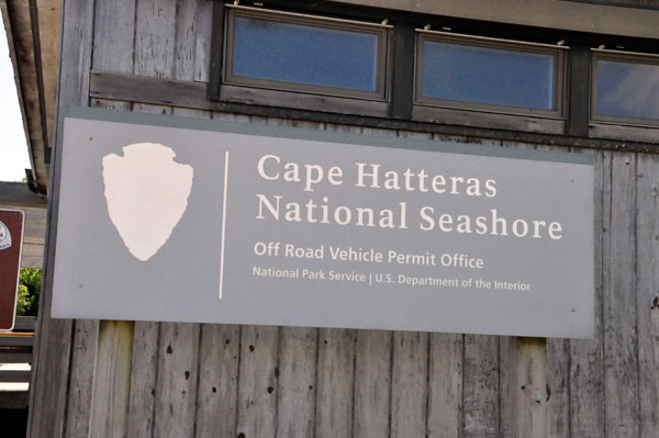
[[[593,49],[591,119],[659,124],[659,56]]]

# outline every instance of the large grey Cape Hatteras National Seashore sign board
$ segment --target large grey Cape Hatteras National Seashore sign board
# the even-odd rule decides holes
[[[587,155],[71,109],[53,316],[591,337]]]

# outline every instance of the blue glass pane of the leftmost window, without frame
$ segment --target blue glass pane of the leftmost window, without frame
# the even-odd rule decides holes
[[[376,91],[378,35],[237,16],[233,68],[235,76]]]

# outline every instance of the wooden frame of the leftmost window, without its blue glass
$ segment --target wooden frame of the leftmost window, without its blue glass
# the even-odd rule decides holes
[[[339,106],[343,99],[355,99],[360,101],[386,102],[390,101],[391,96],[391,30],[392,25],[369,23],[354,20],[334,19],[330,16],[316,16],[297,12],[283,12],[261,8],[242,7],[236,4],[225,4],[227,9],[226,22],[224,30],[224,49],[222,63],[222,86],[226,88],[226,97],[241,99],[243,93],[237,88],[259,89],[264,90],[269,98],[280,97],[290,99],[291,97],[300,97],[302,94],[315,94],[327,97],[323,102],[336,103]],[[280,81],[275,79],[249,78],[233,74],[233,42],[235,41],[235,19],[236,16],[255,18],[281,23],[310,25],[315,27],[357,31],[364,33],[372,33],[378,36],[378,61],[377,61],[377,78],[376,91],[357,90],[342,87],[319,86],[294,81]],[[283,94],[281,94],[283,93]],[[310,102],[317,102],[317,99],[301,99]]]

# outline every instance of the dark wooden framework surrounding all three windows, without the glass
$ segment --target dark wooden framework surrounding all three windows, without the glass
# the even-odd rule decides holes
[[[319,21],[387,29],[387,99],[369,100],[355,96],[335,96],[300,89],[282,90],[224,81],[226,59],[226,26],[230,10],[245,9],[264,14],[306,18],[313,25]],[[271,16],[271,15],[269,15]],[[388,21],[393,25],[386,25]],[[304,2],[302,0],[271,0],[267,8],[237,5],[237,2],[217,1],[213,4],[210,76],[206,96],[215,109],[273,116],[292,116],[327,123],[349,123],[360,126],[418,126],[433,132],[453,132],[459,135],[484,135],[511,138],[544,138],[543,142],[572,142],[574,144],[607,144],[611,141],[629,144],[659,145],[659,126],[648,120],[593,120],[593,55],[599,44],[611,47],[624,45],[634,56],[652,53],[659,40],[649,37],[617,37],[601,33],[574,33],[560,29],[539,30],[517,24],[479,22],[472,19],[453,19],[439,15],[400,12],[381,7],[357,7],[334,2]],[[444,105],[416,102],[418,63],[415,49],[418,32],[440,32],[446,37],[493,41],[503,48],[547,47],[558,50],[556,94],[557,111],[520,109],[506,105],[469,104],[447,100]],[[420,27],[423,27],[420,29]],[[459,32],[458,32],[459,31]],[[543,32],[540,32],[543,31]],[[545,32],[546,31],[546,32]],[[485,36],[487,35],[487,36]],[[494,37],[493,37],[494,36]],[[559,43],[552,44],[552,42]],[[570,46],[562,45],[570,42]],[[463,42],[463,41],[461,41]],[[482,44],[482,43],[481,43]],[[618,47],[622,48],[622,47]],[[532,49],[532,52],[534,52]],[[651,56],[651,55],[650,55]],[[545,113],[543,113],[545,112]],[[467,134],[465,134],[467,133]],[[537,137],[539,135],[539,137]],[[530,139],[529,139],[530,141]],[[596,146],[595,146],[596,147]],[[625,148],[623,146],[616,146]],[[643,146],[645,147],[645,146]],[[645,149],[644,149],[645,150]]]

